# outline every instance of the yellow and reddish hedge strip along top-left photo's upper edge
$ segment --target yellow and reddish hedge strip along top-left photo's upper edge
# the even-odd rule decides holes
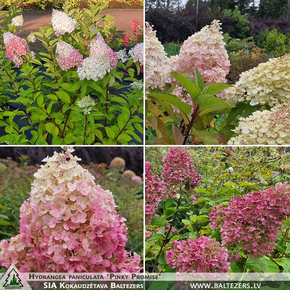
[[[110,0],[7,0],[7,6],[18,3],[22,9],[62,9],[64,6],[72,5],[73,8],[88,8],[89,4],[100,2],[106,7],[133,7],[143,6],[143,0],[119,0],[114,5],[110,5]]]

